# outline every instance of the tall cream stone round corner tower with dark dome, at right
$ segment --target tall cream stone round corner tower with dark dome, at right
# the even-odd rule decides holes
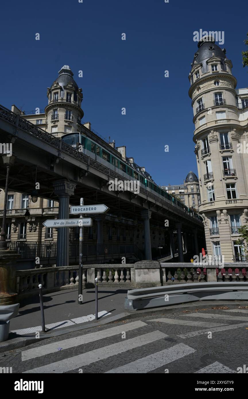
[[[247,261],[238,239],[248,222],[248,89],[236,89],[232,62],[210,36],[198,43],[189,81],[207,253]]]

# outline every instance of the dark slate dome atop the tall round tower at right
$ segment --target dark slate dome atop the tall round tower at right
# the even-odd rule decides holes
[[[195,53],[192,65],[194,65],[195,61],[197,63],[202,63],[202,73],[208,72],[209,68],[206,61],[216,55],[216,57],[221,58],[220,63],[222,70],[226,71],[226,65],[224,63],[224,60],[226,59],[225,51],[225,49],[222,51],[222,49],[215,44],[214,38],[211,36],[204,36],[198,42],[198,50]]]

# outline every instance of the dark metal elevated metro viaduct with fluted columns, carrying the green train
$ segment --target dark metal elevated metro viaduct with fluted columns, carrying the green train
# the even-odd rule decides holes
[[[173,231],[177,231],[178,260],[183,262],[183,241],[192,234],[194,253],[199,254],[204,245],[204,227],[201,216],[185,212],[178,205],[140,187],[139,194],[130,191],[108,190],[108,181],[124,177],[93,158],[78,152],[59,138],[45,132],[36,125],[0,106],[0,142],[12,143],[12,160],[8,191],[29,194],[39,182],[39,197],[59,201],[60,219],[69,217],[69,202],[79,205],[84,198],[85,205],[104,203],[114,215],[123,215],[134,221],[144,221],[145,259],[152,259],[150,219],[164,227],[169,221],[171,253],[173,256]],[[14,156],[14,157],[13,157]],[[0,187],[5,188],[6,165],[0,161]],[[156,195],[157,194],[157,195]],[[97,243],[102,243],[101,215],[94,215],[98,223]],[[166,227],[164,227],[166,229]],[[187,244],[186,244],[187,245]],[[58,229],[57,266],[69,264],[69,227]]]

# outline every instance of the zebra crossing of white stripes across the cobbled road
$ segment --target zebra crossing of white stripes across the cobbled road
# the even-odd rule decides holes
[[[230,313],[192,312],[180,317],[146,317],[144,321],[128,320],[99,331],[94,328],[93,332],[73,338],[39,343],[22,351],[22,373],[79,372],[84,367],[94,369],[101,362],[104,367],[100,368],[100,372],[108,374],[166,372],[163,366],[167,367],[165,370],[174,367],[176,371],[173,372],[178,373],[236,373],[235,367],[224,364],[223,357],[221,360],[212,359],[208,364],[201,361],[197,368],[195,359],[198,349],[195,340],[190,340],[209,331],[221,333],[248,326],[248,317]],[[160,331],[159,325],[163,331]],[[171,328],[175,328],[175,334],[171,334]],[[183,334],[180,334],[180,328]],[[170,334],[167,334],[167,330]],[[182,342],[185,338],[188,340]],[[187,363],[187,371],[175,367],[178,361],[180,367],[184,362]],[[192,370],[189,370],[189,364]]]

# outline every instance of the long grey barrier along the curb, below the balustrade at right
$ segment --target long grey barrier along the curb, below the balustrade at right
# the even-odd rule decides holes
[[[248,282],[200,282],[128,290],[124,307],[140,310],[197,300],[248,300]]]

